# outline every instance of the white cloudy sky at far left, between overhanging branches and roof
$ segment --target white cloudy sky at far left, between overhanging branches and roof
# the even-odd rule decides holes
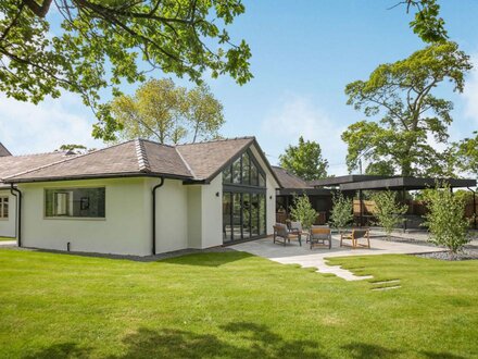
[[[0,96],[0,143],[14,154],[47,152],[63,144],[103,147],[91,137],[92,113],[73,95],[35,106]]]

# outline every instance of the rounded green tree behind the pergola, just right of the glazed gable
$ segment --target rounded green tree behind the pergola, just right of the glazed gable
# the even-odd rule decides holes
[[[305,141],[299,137],[298,146],[289,146],[284,154],[279,156],[280,166],[305,180],[313,181],[327,176],[328,161],[322,158],[320,145],[315,141]]]

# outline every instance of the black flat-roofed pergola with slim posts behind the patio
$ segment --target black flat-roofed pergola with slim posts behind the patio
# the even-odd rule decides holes
[[[311,183],[315,188],[335,188],[344,193],[358,191],[360,218],[363,223],[362,191],[363,190],[417,190],[435,188],[448,184],[450,189],[468,188],[474,194],[474,218],[475,228],[477,227],[476,215],[476,193],[471,187],[476,187],[477,181],[470,178],[431,178],[431,177],[403,177],[403,176],[377,176],[377,175],[344,175],[317,180]]]

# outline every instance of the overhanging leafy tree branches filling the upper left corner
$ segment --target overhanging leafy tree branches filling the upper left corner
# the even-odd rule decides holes
[[[79,94],[99,119],[95,137],[112,139],[117,124],[100,92],[120,95],[124,81],[159,70],[201,83],[210,70],[247,83],[250,48],[226,30],[243,12],[240,0],[3,0],[0,91],[34,103]]]

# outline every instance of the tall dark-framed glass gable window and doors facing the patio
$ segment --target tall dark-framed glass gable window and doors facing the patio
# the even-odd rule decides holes
[[[223,240],[266,235],[265,173],[250,150],[223,171]]]

